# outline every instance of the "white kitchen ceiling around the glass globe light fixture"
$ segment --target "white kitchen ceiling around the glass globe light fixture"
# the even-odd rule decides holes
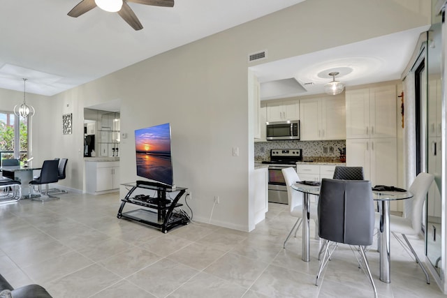
[[[323,94],[335,77],[345,86],[399,80],[409,63],[420,33],[429,27],[342,45],[251,67],[261,82],[261,100]]]

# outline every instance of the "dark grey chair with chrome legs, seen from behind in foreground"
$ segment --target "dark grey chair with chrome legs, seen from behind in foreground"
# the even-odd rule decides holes
[[[318,200],[318,234],[323,239],[320,261],[315,285],[324,267],[328,265],[332,253],[338,244],[349,244],[354,254],[360,254],[358,265],[365,271],[374,288],[365,246],[372,244],[374,235],[374,202],[371,182],[362,180],[322,179]]]

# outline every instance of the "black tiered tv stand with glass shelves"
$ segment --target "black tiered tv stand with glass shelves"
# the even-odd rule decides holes
[[[170,186],[165,184],[142,180],[123,185],[128,188],[129,192],[126,194],[126,197],[121,200],[122,202],[118,209],[117,218],[124,217],[133,221],[145,223],[152,227],[159,228],[163,233],[167,233],[168,230],[175,228],[177,225],[187,225],[189,223],[189,218],[183,214],[174,212],[176,207],[183,206],[183,204],[179,204],[178,201],[182,198],[182,195],[184,195],[187,188],[170,188]],[[132,197],[133,191],[137,188],[156,191],[156,195],[134,195]],[[169,200],[166,198],[166,193],[177,194],[174,199]],[[126,203],[139,205],[145,207],[145,209],[136,209],[123,213],[124,205]]]

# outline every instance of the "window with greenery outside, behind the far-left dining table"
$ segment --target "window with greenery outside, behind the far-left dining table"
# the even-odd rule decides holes
[[[0,159],[28,158],[28,135],[27,118],[0,111]]]

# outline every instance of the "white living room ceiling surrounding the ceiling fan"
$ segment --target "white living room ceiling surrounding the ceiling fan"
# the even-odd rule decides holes
[[[0,9],[0,88],[52,96],[161,52],[304,0],[177,0],[173,8],[129,3],[144,29],[80,0],[8,0]],[[219,17],[217,17],[219,16]]]

